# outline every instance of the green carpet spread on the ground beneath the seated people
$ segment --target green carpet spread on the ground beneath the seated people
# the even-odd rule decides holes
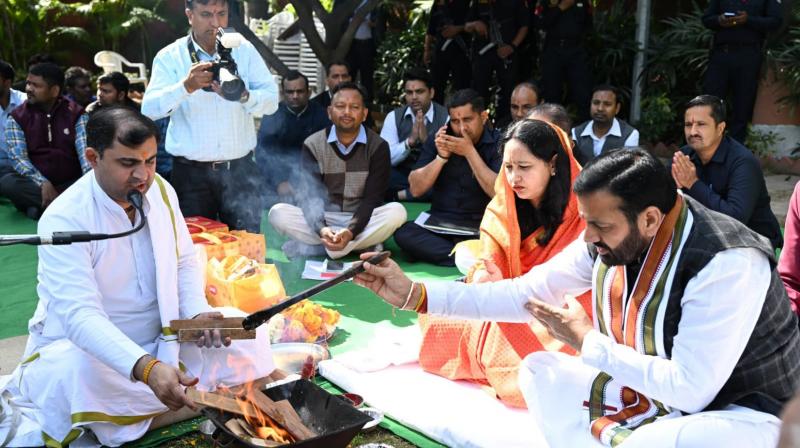
[[[408,219],[414,220],[429,204],[404,204]],[[267,260],[275,263],[288,294],[309,288],[317,281],[303,280],[300,273],[304,260],[288,260],[280,247],[285,241],[267,223],[262,222],[267,239]],[[69,230],[69,229],[64,229]],[[17,212],[11,204],[0,198],[0,234],[29,234],[36,232],[36,223]],[[455,279],[460,276],[455,268],[444,268],[427,263],[415,263],[403,254],[394,242],[385,243],[386,250],[392,251],[392,258],[414,280]],[[356,260],[356,256],[345,261]],[[32,246],[0,247],[0,339],[27,334],[27,321],[36,308],[36,248]],[[336,356],[348,350],[365,347],[372,336],[373,324],[388,321],[393,325],[405,327],[416,323],[416,314],[407,311],[392,313],[392,308],[372,292],[354,285],[352,282],[337,285],[313,299],[315,302],[335,309],[341,313],[341,321],[334,336],[328,341],[331,353]],[[331,391],[336,387],[325,379],[318,383]],[[442,445],[424,435],[407,428],[391,419],[381,426],[417,446],[441,447]],[[158,446],[166,440],[179,437],[196,429],[196,422],[190,421],[174,425],[168,429],[152,431],[131,446]]]

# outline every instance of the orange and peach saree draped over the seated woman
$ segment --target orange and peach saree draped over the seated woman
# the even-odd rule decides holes
[[[572,155],[570,139],[560,128],[551,127],[570,157],[571,181],[574,182],[580,165]],[[561,225],[550,242],[545,246],[536,242],[543,228],[521,241],[514,191],[502,173],[497,176],[494,189],[495,196],[481,221],[481,256],[493,260],[503,278],[519,277],[549,260],[577,239],[585,227],[578,217],[575,194],[570,191]],[[578,300],[591,313],[591,293]],[[423,334],[419,362],[425,371],[448,379],[484,384],[504,403],[514,407],[525,407],[517,385],[522,358],[539,350],[575,354],[572,348],[550,337],[536,321],[531,324],[495,323],[420,315],[419,325]]]

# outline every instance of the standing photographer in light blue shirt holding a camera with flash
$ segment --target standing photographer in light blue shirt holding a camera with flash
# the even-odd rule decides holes
[[[238,67],[244,89],[235,98],[223,96],[212,70],[220,56],[217,30],[228,26],[228,2],[186,0],[186,17],[189,35],[163,48],[153,61],[142,113],[153,119],[170,117],[166,149],[174,156],[171,182],[183,214],[259,233],[262,207],[253,118],[275,112],[278,86],[256,49],[244,41],[230,50],[228,61],[223,58],[228,70]]]

